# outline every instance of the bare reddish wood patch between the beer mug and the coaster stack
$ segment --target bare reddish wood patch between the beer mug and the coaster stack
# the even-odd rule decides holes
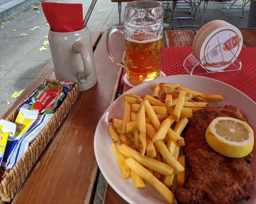
[[[166,30],[167,47],[192,47],[194,34],[192,30]]]

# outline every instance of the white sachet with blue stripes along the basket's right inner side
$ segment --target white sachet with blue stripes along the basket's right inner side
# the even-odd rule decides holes
[[[31,142],[35,140],[37,135],[42,131],[44,126],[48,123],[50,118],[52,118],[54,114],[44,114],[38,115],[36,121],[31,126],[31,128],[27,131],[27,133],[18,141],[14,152],[11,155],[10,161],[6,166],[6,169],[10,169],[14,167],[14,165],[20,160],[23,154],[27,151]]]

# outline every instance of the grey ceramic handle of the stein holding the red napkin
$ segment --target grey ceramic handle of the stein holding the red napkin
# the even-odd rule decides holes
[[[90,52],[87,50],[86,46],[81,41],[75,42],[73,47],[75,53],[80,53],[82,61],[84,63],[84,72],[80,72],[77,75],[77,79],[81,84],[86,83],[87,77],[90,76],[92,71],[92,62]]]

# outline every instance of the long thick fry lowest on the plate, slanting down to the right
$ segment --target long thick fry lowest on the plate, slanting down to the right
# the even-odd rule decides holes
[[[168,204],[172,204],[174,202],[174,195],[172,194],[172,192],[168,188],[166,188],[166,186],[161,181],[156,179],[153,174],[151,174],[133,158],[127,158],[124,161],[124,164],[126,164],[131,170],[133,170],[145,181],[147,181],[151,186],[153,186]]]

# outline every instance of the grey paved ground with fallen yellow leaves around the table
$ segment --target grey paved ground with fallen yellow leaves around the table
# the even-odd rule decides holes
[[[57,1],[58,0],[55,0],[55,2]],[[62,2],[82,3],[85,15],[91,1],[62,0]],[[238,4],[241,4],[241,1],[238,2]],[[122,4],[122,23],[124,5],[125,4]],[[226,4],[226,6],[227,5],[228,4]],[[24,89],[51,59],[49,48],[44,51],[39,51],[39,48],[43,46],[43,42],[47,40],[45,37],[48,35],[49,26],[47,26],[41,5],[39,4],[38,7],[39,10],[28,9],[15,16],[15,18],[11,19],[9,22],[4,22],[0,25],[0,116],[6,111],[10,104],[14,102],[15,98],[11,98],[13,92]],[[246,27],[248,12],[245,12],[244,17],[241,18],[241,9],[226,10],[221,7],[222,4],[209,2],[205,22],[214,19],[222,19],[239,28]],[[105,11],[99,12],[100,10]],[[249,8],[246,7],[245,11],[248,10]],[[37,13],[38,11],[41,11],[41,13]],[[188,9],[179,8],[178,16],[191,16],[189,12],[191,11]],[[199,25],[198,13],[196,17],[197,19],[178,19],[176,25]],[[170,26],[173,25],[172,20],[169,22],[165,20],[165,23],[167,23],[165,26],[168,24]],[[105,32],[112,26],[117,25],[117,3],[112,3],[110,0],[98,0],[88,23],[89,29],[91,31],[101,30]],[[30,30],[36,26],[40,28]],[[177,29],[192,29],[195,31],[198,28],[186,27]],[[28,35],[20,36],[21,34]],[[101,203],[105,187],[105,180],[101,174],[99,175],[99,179],[100,182],[97,187],[94,202],[96,204]]]

